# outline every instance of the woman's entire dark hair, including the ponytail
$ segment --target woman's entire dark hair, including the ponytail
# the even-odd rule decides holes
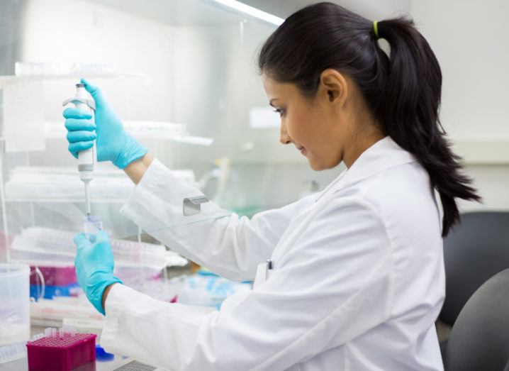
[[[260,72],[297,85],[315,96],[320,74],[334,68],[351,77],[371,115],[401,148],[412,153],[440,193],[442,236],[459,221],[456,198],[480,201],[471,179],[462,174],[461,157],[452,153],[438,118],[442,72],[435,54],[411,19],[377,23],[390,57],[376,41],[373,22],[332,3],[293,13],[262,46]]]

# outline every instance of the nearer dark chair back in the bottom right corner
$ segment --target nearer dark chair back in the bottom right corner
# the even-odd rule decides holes
[[[509,365],[509,269],[466,302],[447,343],[446,371],[503,371]]]

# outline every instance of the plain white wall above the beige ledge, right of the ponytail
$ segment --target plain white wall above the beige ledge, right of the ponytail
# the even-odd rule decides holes
[[[463,140],[509,140],[509,1],[412,4],[442,67],[442,120],[449,133]]]

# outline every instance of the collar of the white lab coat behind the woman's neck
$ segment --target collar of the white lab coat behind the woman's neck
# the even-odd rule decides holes
[[[415,161],[417,160],[413,155],[386,136],[365,150],[352,166],[345,170],[345,174],[340,175],[341,179],[338,179],[334,188],[339,190],[383,170]]]

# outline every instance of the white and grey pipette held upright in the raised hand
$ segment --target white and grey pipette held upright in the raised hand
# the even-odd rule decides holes
[[[79,109],[80,111],[86,111],[94,113],[96,109],[96,103],[94,99],[88,97],[85,85],[84,84],[76,84],[76,95],[74,98],[65,100],[62,105],[66,106],[67,104],[72,103]],[[89,183],[92,179],[92,172],[94,171],[94,164],[97,162],[96,156],[96,145],[94,145],[87,149],[82,150],[78,153],[78,171],[79,171],[79,179],[82,180],[85,187],[85,209],[86,215],[90,216],[90,188]]]

